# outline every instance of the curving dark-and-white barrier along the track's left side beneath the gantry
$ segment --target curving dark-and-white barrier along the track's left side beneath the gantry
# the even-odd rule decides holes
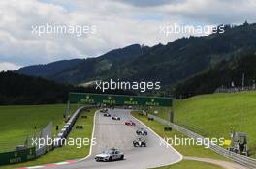
[[[66,123],[66,125],[61,129],[61,131],[56,135],[55,141],[54,141],[54,147],[60,147],[64,144],[65,138],[68,137],[72,127],[75,125],[77,119],[80,116],[80,112],[84,109],[90,109],[90,108],[96,108],[98,106],[96,105],[87,105],[80,107],[74,115],[70,118],[70,120]]]

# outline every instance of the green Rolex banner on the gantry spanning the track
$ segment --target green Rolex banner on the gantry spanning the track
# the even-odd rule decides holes
[[[172,106],[172,98],[126,96],[112,94],[90,94],[90,93],[70,93],[70,103],[86,104],[111,104],[111,105],[139,105],[139,106]]]

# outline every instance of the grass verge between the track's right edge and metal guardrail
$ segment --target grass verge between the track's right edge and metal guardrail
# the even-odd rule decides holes
[[[148,121],[146,116],[139,115],[139,111],[132,112],[132,115],[142,121],[147,127],[150,127],[153,129],[158,135],[160,135],[162,138],[173,138],[176,136],[178,138],[186,138],[185,135],[182,135],[181,133],[173,130],[173,131],[165,131],[164,127],[165,125],[156,122],[156,121]],[[226,158],[222,157],[221,155],[217,155],[213,151],[206,149],[203,146],[197,146],[197,145],[187,145],[187,146],[173,146],[179,153],[181,153],[184,156],[196,156],[196,157],[208,157],[212,159],[220,159],[220,160],[227,160]]]

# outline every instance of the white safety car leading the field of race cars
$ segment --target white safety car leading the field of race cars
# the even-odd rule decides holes
[[[121,150],[112,148],[110,150],[104,151],[102,154],[96,155],[95,160],[97,162],[110,162],[115,160],[123,160],[124,153]]]

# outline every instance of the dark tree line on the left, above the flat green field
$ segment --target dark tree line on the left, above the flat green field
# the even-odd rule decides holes
[[[41,77],[0,72],[0,105],[64,103],[69,92],[100,93],[94,87],[83,88],[58,84]],[[113,94],[130,94],[124,91],[107,91]]]

